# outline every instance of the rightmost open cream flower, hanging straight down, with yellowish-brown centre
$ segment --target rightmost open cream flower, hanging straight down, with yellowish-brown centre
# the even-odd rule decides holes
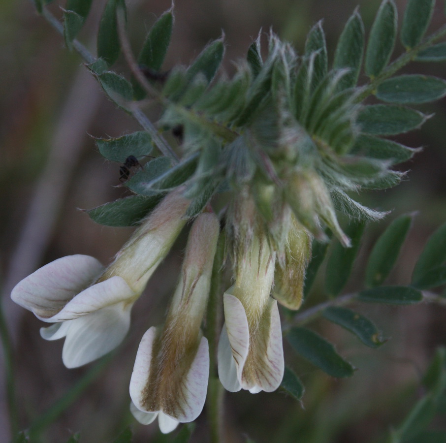
[[[272,392],[282,381],[282,331],[277,301],[270,297],[274,266],[266,237],[254,234],[238,259],[235,285],[223,295],[218,371],[228,391]]]

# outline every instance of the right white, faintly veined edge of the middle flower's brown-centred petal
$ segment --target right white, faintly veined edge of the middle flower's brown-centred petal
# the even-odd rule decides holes
[[[175,418],[181,423],[195,420],[203,410],[209,380],[209,345],[201,337],[200,345],[186,380],[181,384],[180,406],[184,412]]]

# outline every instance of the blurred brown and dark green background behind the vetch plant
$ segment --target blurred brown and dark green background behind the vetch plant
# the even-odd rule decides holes
[[[94,53],[95,36],[105,1],[95,0],[80,40]],[[165,69],[190,63],[209,40],[224,32],[224,69],[244,58],[258,32],[272,29],[302,52],[305,36],[324,19],[329,55],[356,5],[366,33],[379,0],[177,0],[172,44]],[[406,1],[396,1],[400,17]],[[61,3],[63,6],[63,3]],[[61,16],[59,4],[51,10]],[[138,52],[145,33],[170,7],[168,0],[130,0],[130,40]],[[432,30],[445,22],[437,1]],[[403,51],[397,44],[395,55]],[[51,408],[92,365],[64,368],[63,342],[40,338],[42,323],[9,299],[12,287],[43,264],[68,254],[90,254],[111,260],[132,231],[95,224],[79,209],[96,207],[126,195],[119,182],[119,164],[104,160],[91,136],[116,137],[139,127],[101,93],[80,57],[64,47],[63,38],[39,17],[27,0],[0,1],[0,281],[2,305],[14,350],[20,429]],[[127,72],[123,60],[118,72]],[[407,72],[446,77],[445,64],[413,63]],[[365,82],[361,78],[360,82]],[[399,141],[424,150],[399,165],[407,178],[393,190],[362,194],[373,208],[392,210],[381,223],[367,228],[348,290],[361,288],[364,258],[389,221],[418,211],[398,267],[389,282],[406,284],[427,237],[446,219],[446,101],[419,109],[435,115]],[[134,442],[156,442],[156,423],[136,424],[129,415],[128,381],[142,334],[163,321],[176,283],[185,236],[154,275],[133,312],[131,331],[105,369],[48,427],[42,442],[65,442],[80,432],[80,442],[112,442],[133,423]],[[321,300],[323,269],[306,306]],[[435,348],[445,344],[445,308],[423,304],[394,308],[358,306],[390,340],[379,350],[362,346],[349,333],[320,320],[311,326],[337,344],[359,368],[348,380],[331,379],[287,353],[287,364],[302,379],[302,403],[277,392],[226,393],[224,432],[227,442],[353,443],[382,442],[418,398],[420,374]],[[137,314],[137,315],[136,315]],[[0,441],[9,441],[4,368],[0,366]],[[207,441],[205,412],[197,421],[193,442]],[[163,441],[170,441],[169,437]]]

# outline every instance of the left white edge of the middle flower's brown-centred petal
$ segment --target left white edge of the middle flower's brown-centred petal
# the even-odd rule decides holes
[[[157,328],[152,326],[142,336],[135,364],[130,378],[130,398],[137,409],[144,411],[143,391],[149,380],[150,362],[152,360],[153,342],[157,336]]]

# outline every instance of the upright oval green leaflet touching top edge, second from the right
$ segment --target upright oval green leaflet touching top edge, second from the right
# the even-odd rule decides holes
[[[393,0],[384,0],[370,31],[365,55],[365,73],[376,77],[390,60],[395,46],[397,31],[397,9]]]

